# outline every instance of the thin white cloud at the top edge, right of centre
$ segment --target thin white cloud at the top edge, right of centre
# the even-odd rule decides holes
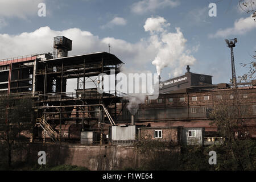
[[[148,11],[152,12],[157,9],[176,7],[179,5],[180,2],[174,0],[142,0],[133,3],[133,5],[131,5],[131,11],[136,14],[143,14],[147,13]]]

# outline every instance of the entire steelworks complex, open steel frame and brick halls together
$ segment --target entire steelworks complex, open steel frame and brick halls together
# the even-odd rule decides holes
[[[221,136],[210,125],[210,111],[220,101],[232,105],[234,89],[212,84],[212,76],[193,73],[159,82],[159,97],[145,100],[132,116],[125,94],[117,90],[99,93],[97,76],[115,76],[123,62],[107,52],[68,56],[72,40],[54,38],[53,54],[44,53],[0,61],[0,94],[34,100],[34,142],[81,142],[81,144],[129,143],[138,137],[189,143],[214,142]],[[75,92],[67,92],[67,80],[77,79]],[[87,84],[94,84],[88,88]],[[239,84],[238,84],[239,85]],[[256,81],[236,89],[247,134],[256,138]],[[133,122],[131,122],[133,120]],[[235,132],[239,135],[239,131]]]

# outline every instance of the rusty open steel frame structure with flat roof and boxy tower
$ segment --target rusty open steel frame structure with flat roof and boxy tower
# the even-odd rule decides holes
[[[57,56],[51,53],[30,55],[0,61],[0,94],[31,96],[35,101],[36,132],[34,138],[51,138],[61,142],[72,138],[67,130],[94,130],[101,134],[115,125],[117,102],[122,93],[112,90],[100,94],[100,74],[115,76],[123,64],[115,55],[96,52],[67,57],[72,41],[59,36],[54,39]],[[77,80],[76,92],[66,92],[67,80]],[[87,88],[86,84],[94,84]],[[108,120],[108,121],[106,121]],[[43,131],[43,132],[42,132]],[[42,134],[42,135],[41,135]],[[79,138],[80,139],[80,138]]]

